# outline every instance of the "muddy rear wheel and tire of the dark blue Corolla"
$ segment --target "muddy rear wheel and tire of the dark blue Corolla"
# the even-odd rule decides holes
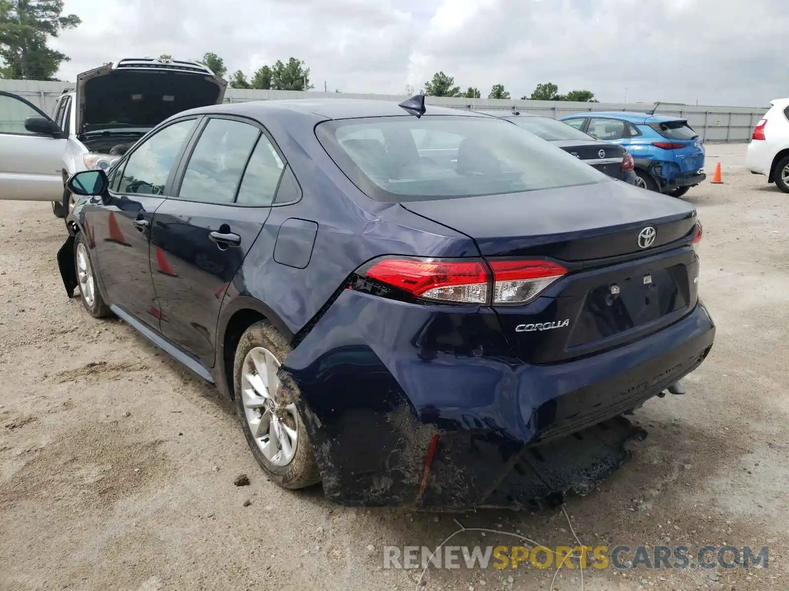
[[[246,329],[236,348],[236,411],[252,455],[268,476],[286,489],[320,482],[315,452],[295,404],[301,392],[279,377],[290,344],[267,321]]]

